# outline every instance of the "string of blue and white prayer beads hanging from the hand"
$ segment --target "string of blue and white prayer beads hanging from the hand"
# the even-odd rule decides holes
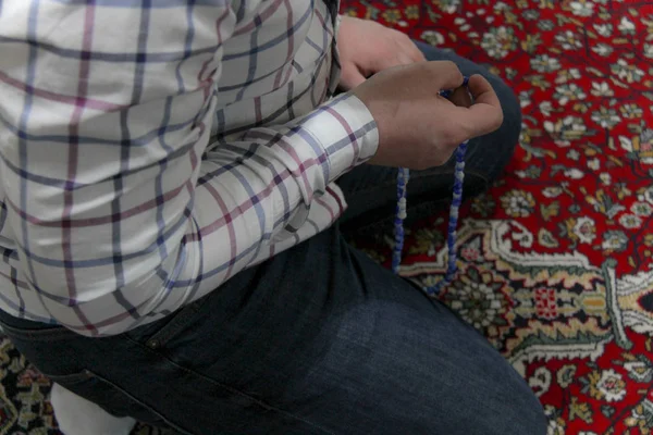
[[[467,86],[469,77],[465,77],[463,86]],[[445,98],[449,98],[452,95],[451,90],[442,90],[440,95]],[[448,261],[446,266],[445,275],[435,285],[426,287],[424,291],[429,295],[436,295],[442,288],[454,281],[456,276],[456,237],[458,227],[458,211],[463,202],[463,182],[465,181],[465,153],[467,152],[468,141],[464,141],[456,149],[456,166],[454,169],[454,191],[452,197],[452,204],[449,207],[449,219],[447,226],[447,253]],[[406,167],[399,167],[397,174],[397,207],[394,220],[394,238],[395,246],[392,253],[392,270],[394,273],[398,273],[399,264],[402,263],[402,252],[404,250],[404,220],[406,219],[406,187],[408,179],[410,178],[410,171]]]

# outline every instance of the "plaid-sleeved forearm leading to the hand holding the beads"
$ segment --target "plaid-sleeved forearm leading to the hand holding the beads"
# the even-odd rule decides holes
[[[209,152],[192,235],[206,241],[196,251],[206,263],[199,276],[211,276],[201,288],[215,288],[273,244],[294,237],[310,210],[324,207],[319,202],[328,185],[371,158],[377,144],[367,109],[342,96],[293,125],[255,128]]]

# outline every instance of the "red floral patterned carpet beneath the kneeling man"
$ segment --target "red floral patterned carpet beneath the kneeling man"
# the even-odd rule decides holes
[[[525,376],[550,435],[652,434],[653,1],[342,10],[492,65],[519,95],[520,146],[463,212],[460,272],[441,298]],[[404,275],[433,284],[444,272],[445,217],[408,232]],[[359,245],[387,262],[390,240]],[[0,435],[59,433],[48,380],[5,339],[0,380]]]

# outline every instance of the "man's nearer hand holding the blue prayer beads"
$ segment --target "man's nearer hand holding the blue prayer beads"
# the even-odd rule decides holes
[[[423,170],[445,163],[464,140],[497,129],[503,111],[485,78],[473,75],[467,90],[451,61],[419,62],[375,74],[353,90],[379,127],[379,149],[370,161]],[[452,100],[439,95],[456,89]]]

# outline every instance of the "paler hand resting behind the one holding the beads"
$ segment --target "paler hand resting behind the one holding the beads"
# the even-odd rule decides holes
[[[372,21],[343,16],[337,39],[344,90],[380,71],[424,60],[410,38]]]

